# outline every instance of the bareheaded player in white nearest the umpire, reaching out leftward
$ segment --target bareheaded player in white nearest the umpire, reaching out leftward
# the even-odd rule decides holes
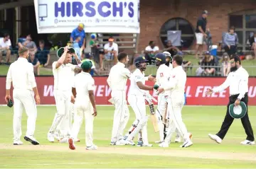
[[[183,59],[181,56],[176,55],[173,58],[172,64],[174,69],[171,71],[169,82],[164,84],[161,88],[158,88],[159,93],[164,91],[171,91],[171,95],[168,98],[168,110],[170,113],[170,124],[167,136],[175,132],[175,127],[184,139],[184,143],[181,147],[188,147],[193,145],[189,138],[188,131],[185,124],[182,121],[181,110],[184,105],[184,91],[186,85],[186,72],[183,71],[181,66]],[[175,127],[174,127],[175,126]],[[168,147],[168,140],[165,139],[163,143],[159,144],[161,147]]]

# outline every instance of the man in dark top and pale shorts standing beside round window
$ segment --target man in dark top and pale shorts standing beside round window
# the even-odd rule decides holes
[[[206,35],[206,25],[207,25],[207,16],[208,11],[203,11],[202,16],[198,18],[196,23],[196,58],[198,58],[198,51],[200,53],[200,57],[202,57],[203,53],[203,39],[207,37]]]

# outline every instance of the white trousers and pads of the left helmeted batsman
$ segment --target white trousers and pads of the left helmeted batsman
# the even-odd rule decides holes
[[[131,105],[132,110],[134,110],[137,120],[139,120],[139,124],[137,125],[136,129],[134,129],[134,131],[130,134],[130,136],[133,138],[134,135],[142,129],[142,141],[144,144],[149,144],[146,129],[148,117],[146,116],[145,98],[140,95],[129,95],[128,102],[129,105]]]

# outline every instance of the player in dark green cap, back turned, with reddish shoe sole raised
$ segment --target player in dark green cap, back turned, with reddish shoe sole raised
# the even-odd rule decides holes
[[[85,142],[87,150],[97,150],[97,146],[93,144],[93,120],[97,116],[95,105],[95,81],[90,75],[92,69],[92,62],[82,62],[82,72],[75,76],[74,85],[72,88],[73,95],[75,96],[75,113],[80,116],[85,116]],[[79,123],[73,125],[71,138],[68,139],[69,148],[74,150],[74,139],[76,136],[73,131],[78,131],[76,127],[80,127]]]

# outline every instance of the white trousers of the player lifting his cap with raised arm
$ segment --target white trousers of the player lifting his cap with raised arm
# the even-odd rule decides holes
[[[57,112],[55,114],[53,124],[49,130],[49,132],[51,133],[56,131],[58,125],[60,125],[60,123],[65,117],[69,116],[71,100],[71,91],[54,90],[53,94],[55,98]],[[63,128],[62,126],[63,125],[60,125],[60,129]]]

